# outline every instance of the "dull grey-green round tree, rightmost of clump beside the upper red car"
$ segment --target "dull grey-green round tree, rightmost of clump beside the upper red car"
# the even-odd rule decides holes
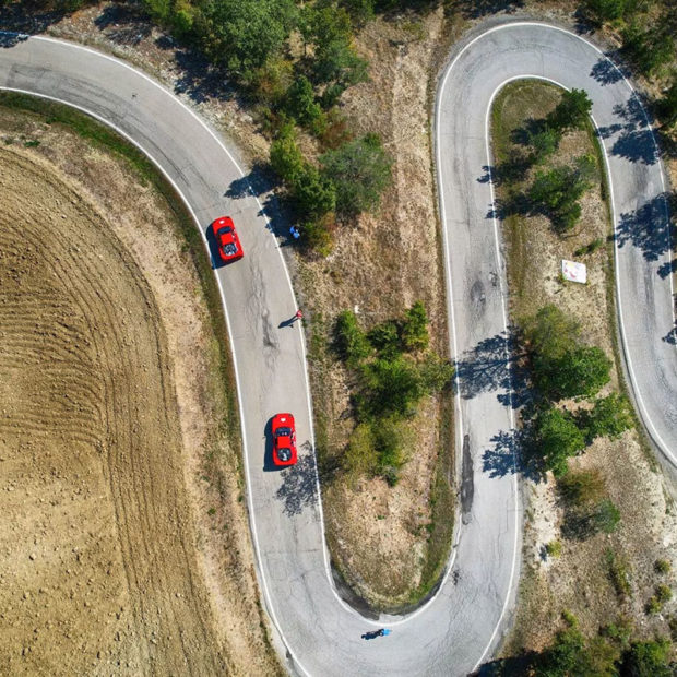
[[[323,175],[336,188],[336,210],[344,216],[378,206],[391,181],[392,161],[377,134],[344,143],[320,162]]]

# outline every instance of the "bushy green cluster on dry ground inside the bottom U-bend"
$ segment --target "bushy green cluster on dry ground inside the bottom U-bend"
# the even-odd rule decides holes
[[[334,349],[356,377],[357,425],[343,458],[355,477],[381,476],[390,485],[407,461],[407,418],[420,399],[449,388],[453,368],[427,349],[428,321],[417,301],[403,318],[365,331],[354,312],[336,318]]]

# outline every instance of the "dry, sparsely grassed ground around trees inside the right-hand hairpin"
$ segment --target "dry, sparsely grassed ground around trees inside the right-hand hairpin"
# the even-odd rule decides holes
[[[559,96],[556,87],[534,81],[504,87],[492,111],[495,164],[500,163],[511,146],[511,131],[530,118],[545,117]],[[595,153],[592,133],[569,132],[554,162],[569,164],[585,153]],[[581,201],[581,219],[563,237],[557,236],[543,216],[511,216],[503,222],[502,234],[512,321],[535,313],[546,304],[554,304],[575,318],[583,341],[601,346],[609,357],[616,358],[611,382],[601,393],[606,395],[621,391],[623,385],[614,336],[613,245],[607,241],[610,222],[601,179],[598,167],[594,186]],[[499,187],[497,198],[504,194],[502,191],[504,188]],[[596,238],[604,242],[596,251],[574,254],[578,248]],[[562,282],[561,259],[584,262],[587,284]],[[573,402],[565,404],[569,408],[575,406]],[[620,511],[619,526],[614,534],[598,534],[585,541],[563,538],[560,532],[563,510],[551,474],[547,482],[525,483],[523,575],[518,615],[504,655],[543,649],[562,627],[565,609],[578,617],[581,630],[589,636],[620,616],[632,620],[637,637],[669,636],[667,621],[675,614],[675,602],[653,615],[646,613],[645,605],[656,584],[675,587],[674,573],[658,574],[654,565],[661,559],[670,562],[673,572],[677,567],[677,515],[665,479],[645,442],[637,430],[627,431],[617,440],[597,438],[569,466],[597,470],[602,474],[606,492]],[[545,546],[555,541],[562,546],[559,557],[545,551]],[[626,594],[614,587],[609,551],[628,578]]]

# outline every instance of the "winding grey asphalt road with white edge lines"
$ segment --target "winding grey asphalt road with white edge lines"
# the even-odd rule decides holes
[[[228,213],[247,252],[216,270],[237,372],[251,528],[275,643],[293,673],[465,675],[498,645],[514,606],[521,508],[506,353],[506,275],[491,183],[487,111],[506,82],[545,78],[587,91],[613,182],[622,346],[639,411],[676,463],[677,356],[663,174],[644,112],[590,43],[541,24],[494,27],[459,45],[436,110],[456,416],[460,526],[437,595],[406,618],[368,619],[330,580],[312,451],[305,347],[277,239],[218,136],[171,93],[129,66],[49,38],[0,40],[0,88],[75,106],[153,159],[205,234]],[[170,264],[170,262],[168,262]],[[281,324],[283,324],[281,326]],[[271,471],[266,426],[297,417],[299,464]],[[396,562],[383,562],[384,567]],[[388,625],[389,638],[360,639]]]

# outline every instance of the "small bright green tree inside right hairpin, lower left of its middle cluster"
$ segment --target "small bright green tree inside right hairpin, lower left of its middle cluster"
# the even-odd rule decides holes
[[[560,477],[569,470],[568,459],[585,448],[585,438],[569,412],[548,408],[536,417],[535,443],[547,470]]]

